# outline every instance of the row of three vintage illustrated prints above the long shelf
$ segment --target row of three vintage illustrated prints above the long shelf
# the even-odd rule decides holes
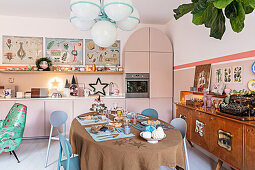
[[[91,39],[84,46],[83,39],[45,38],[45,49],[43,37],[3,36],[2,41],[2,64],[35,65],[45,52],[53,65],[120,65],[120,41],[103,48]]]

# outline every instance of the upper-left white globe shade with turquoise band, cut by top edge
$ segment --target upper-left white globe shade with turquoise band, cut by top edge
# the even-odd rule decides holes
[[[93,20],[100,14],[100,0],[71,0],[70,10],[79,18]]]

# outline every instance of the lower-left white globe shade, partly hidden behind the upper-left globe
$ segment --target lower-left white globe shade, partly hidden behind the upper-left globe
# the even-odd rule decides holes
[[[75,28],[81,31],[88,31],[95,24],[94,20],[84,20],[75,16],[73,13],[70,15],[70,22]]]

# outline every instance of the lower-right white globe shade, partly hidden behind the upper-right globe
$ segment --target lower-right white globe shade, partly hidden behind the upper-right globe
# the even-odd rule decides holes
[[[136,8],[133,13],[125,20],[118,21],[117,26],[123,31],[132,31],[140,23],[140,15]]]

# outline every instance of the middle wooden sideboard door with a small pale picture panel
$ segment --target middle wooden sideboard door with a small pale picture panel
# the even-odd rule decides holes
[[[205,150],[209,150],[210,133],[211,127],[209,124],[209,115],[200,111],[193,111],[190,132],[192,142],[201,146]]]

